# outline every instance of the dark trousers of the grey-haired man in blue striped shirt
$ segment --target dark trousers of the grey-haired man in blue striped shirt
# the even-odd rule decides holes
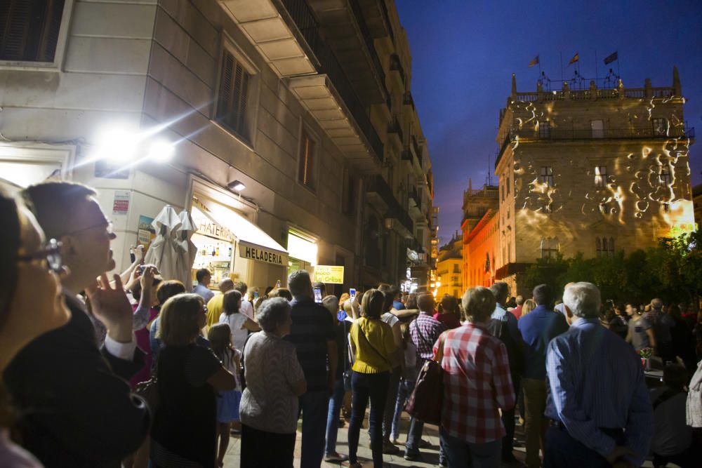
[[[614,434],[612,434],[614,435]],[[623,445],[623,433],[615,438],[617,445]],[[552,425],[546,432],[546,453],[543,468],[610,468],[602,455],[573,439],[561,424]]]

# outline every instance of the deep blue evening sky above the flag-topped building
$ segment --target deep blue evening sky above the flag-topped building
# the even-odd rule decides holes
[[[624,86],[673,85],[677,65],[687,98],[685,120],[702,138],[702,1],[474,1],[396,0],[412,51],[412,94],[429,140],[434,166],[439,237],[460,229],[463,190],[486,180],[494,162],[498,113],[517,89],[536,91],[541,69],[560,79],[573,75],[568,60],[580,53],[581,74],[600,76],[602,59],[618,51]],[[616,62],[614,65],[616,72]],[[690,151],[692,183],[702,182],[702,141]],[[496,182],[494,178],[493,182]]]

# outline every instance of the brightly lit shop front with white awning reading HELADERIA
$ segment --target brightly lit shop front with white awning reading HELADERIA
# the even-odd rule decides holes
[[[197,269],[210,270],[211,289],[218,289],[225,278],[259,288],[284,279],[287,250],[243,213],[197,193],[190,213],[197,226],[192,236],[197,246],[193,276]]]

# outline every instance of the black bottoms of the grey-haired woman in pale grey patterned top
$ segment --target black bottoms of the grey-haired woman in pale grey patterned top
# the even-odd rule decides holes
[[[241,424],[241,468],[291,468],[295,433],[277,434]]]

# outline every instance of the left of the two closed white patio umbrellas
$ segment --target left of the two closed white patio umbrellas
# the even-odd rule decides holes
[[[164,279],[179,279],[176,269],[176,229],[180,218],[172,206],[166,205],[151,225],[156,229],[156,237],[144,258],[145,263],[156,265]]]

